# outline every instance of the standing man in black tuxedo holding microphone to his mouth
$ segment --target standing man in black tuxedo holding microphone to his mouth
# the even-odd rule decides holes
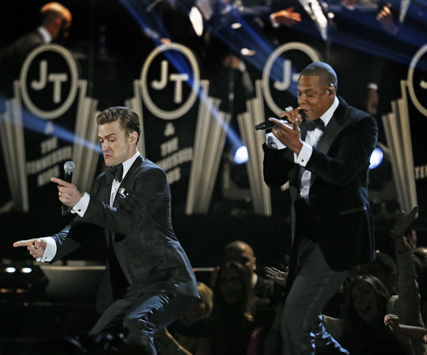
[[[288,123],[270,119],[276,125],[263,146],[265,182],[289,181],[292,200],[293,282],[281,324],[286,355],[315,354],[315,339],[327,354],[348,354],[325,332],[320,313],[350,268],[374,257],[367,182],[376,121],[336,92],[330,65],[305,67],[299,107],[281,114]],[[271,149],[280,146],[270,144],[275,139],[286,148]]]

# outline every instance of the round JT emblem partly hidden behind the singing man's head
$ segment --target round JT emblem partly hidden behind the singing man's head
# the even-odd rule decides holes
[[[295,101],[300,72],[312,62],[320,62],[320,55],[310,45],[300,42],[280,45],[270,55],[263,70],[263,92],[271,111],[280,115]]]

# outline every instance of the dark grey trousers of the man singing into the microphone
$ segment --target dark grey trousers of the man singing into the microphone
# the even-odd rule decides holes
[[[283,310],[283,355],[314,355],[315,343],[326,354],[348,354],[325,332],[321,312],[347,278],[348,271],[333,271],[319,246],[303,239],[298,246],[300,271],[292,283]]]

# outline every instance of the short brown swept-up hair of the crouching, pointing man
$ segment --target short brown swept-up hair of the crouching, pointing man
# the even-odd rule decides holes
[[[141,137],[141,122],[135,111],[122,106],[110,107],[110,109],[106,109],[98,114],[96,118],[98,125],[110,124],[115,121],[120,121],[120,126],[122,126],[127,136],[132,132],[137,132],[137,143],[139,142],[139,138]]]

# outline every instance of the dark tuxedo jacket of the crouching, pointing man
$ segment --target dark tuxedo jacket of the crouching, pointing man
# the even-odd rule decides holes
[[[175,303],[176,297],[198,297],[191,265],[172,229],[164,171],[139,155],[117,191],[115,207],[109,204],[110,190],[102,173],[95,180],[84,217],[75,217],[53,236],[58,251],[52,262],[80,247],[81,232],[95,224],[105,229],[110,250],[97,297],[99,312],[113,302],[117,309],[118,300],[145,299],[145,294],[166,295]]]

